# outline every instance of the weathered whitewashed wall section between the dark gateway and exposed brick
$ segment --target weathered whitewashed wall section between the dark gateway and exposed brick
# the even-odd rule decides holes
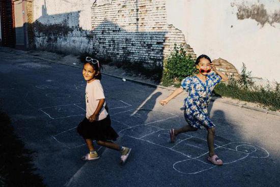
[[[78,54],[90,48],[91,0],[34,0],[37,49]]]

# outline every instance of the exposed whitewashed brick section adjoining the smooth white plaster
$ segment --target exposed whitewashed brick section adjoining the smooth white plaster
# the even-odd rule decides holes
[[[92,29],[92,51],[96,56],[162,65],[176,43],[195,57],[182,32],[167,24],[162,0],[94,4]]]

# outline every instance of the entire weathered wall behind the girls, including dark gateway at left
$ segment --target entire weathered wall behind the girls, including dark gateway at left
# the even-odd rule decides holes
[[[174,47],[280,82],[278,0],[0,0],[1,45],[162,65]]]

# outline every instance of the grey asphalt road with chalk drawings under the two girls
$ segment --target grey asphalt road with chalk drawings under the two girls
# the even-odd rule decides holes
[[[280,117],[214,102],[216,153],[225,163],[207,161],[205,130],[179,135],[186,125],[185,94],[166,106],[171,91],[103,76],[117,143],[132,148],[124,166],[119,152],[99,147],[101,158],[80,160],[88,152],[76,132],[85,116],[81,70],[0,52],[1,107],[17,135],[35,151],[37,172],[47,186],[280,186]]]

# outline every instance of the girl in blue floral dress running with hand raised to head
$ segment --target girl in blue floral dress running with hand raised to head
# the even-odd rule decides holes
[[[166,105],[181,92],[187,91],[188,97],[184,100],[184,116],[188,125],[180,129],[171,129],[171,142],[175,142],[176,136],[180,133],[207,129],[208,160],[215,165],[222,165],[221,159],[214,152],[215,124],[209,118],[207,108],[214,86],[220,81],[227,81],[228,77],[215,68],[207,55],[200,55],[195,61],[195,66],[199,73],[183,79],[181,87],[160,101],[160,104]]]

